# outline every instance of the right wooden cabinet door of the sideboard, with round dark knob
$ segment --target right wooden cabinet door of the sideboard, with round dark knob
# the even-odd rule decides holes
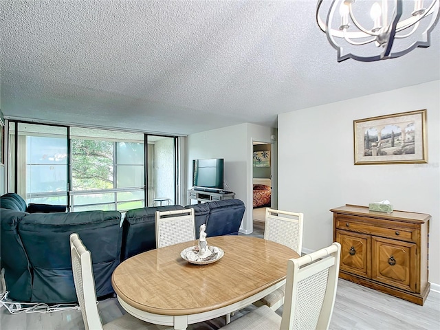
[[[420,292],[417,283],[416,245],[373,236],[371,278],[394,287]]]

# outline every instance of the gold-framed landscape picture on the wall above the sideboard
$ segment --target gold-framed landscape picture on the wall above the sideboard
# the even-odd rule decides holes
[[[355,165],[427,163],[426,109],[353,120]]]

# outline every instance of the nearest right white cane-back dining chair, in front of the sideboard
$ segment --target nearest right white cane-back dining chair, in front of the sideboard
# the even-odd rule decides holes
[[[262,305],[221,329],[329,329],[338,287],[340,249],[335,242],[298,259],[289,259],[283,316]]]

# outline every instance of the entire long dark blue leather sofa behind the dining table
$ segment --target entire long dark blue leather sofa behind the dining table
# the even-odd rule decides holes
[[[15,194],[17,195],[17,194]],[[0,261],[8,297],[19,302],[74,303],[76,292],[69,235],[77,232],[91,251],[96,296],[113,294],[111,274],[135,254],[155,248],[155,212],[183,206],[118,211],[26,212],[21,197],[0,197]],[[188,205],[195,209],[195,232],[206,223],[209,236],[238,234],[245,212],[243,201],[228,199]],[[47,211],[47,210],[46,210]]]

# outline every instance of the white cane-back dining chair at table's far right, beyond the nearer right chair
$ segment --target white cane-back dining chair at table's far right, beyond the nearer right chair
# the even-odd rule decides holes
[[[280,243],[301,255],[303,250],[303,213],[266,209],[264,239]],[[276,311],[284,303],[285,285],[254,303]]]

